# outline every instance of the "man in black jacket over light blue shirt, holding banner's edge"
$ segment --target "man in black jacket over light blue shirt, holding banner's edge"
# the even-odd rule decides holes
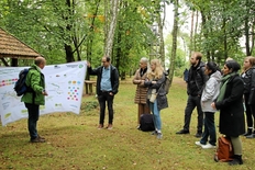
[[[92,69],[90,63],[87,63],[89,75],[97,76],[97,94],[100,104],[100,118],[98,128],[103,128],[106,115],[106,102],[108,104],[108,129],[112,129],[113,122],[113,99],[119,89],[119,72],[114,66],[111,65],[110,57],[102,57],[102,66]]]

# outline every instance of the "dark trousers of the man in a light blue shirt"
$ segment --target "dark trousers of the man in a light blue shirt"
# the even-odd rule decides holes
[[[98,95],[98,102],[99,102],[99,105],[100,105],[100,118],[99,118],[99,124],[102,124],[104,123],[104,116],[106,116],[106,102],[107,102],[107,106],[108,106],[108,113],[109,113],[109,121],[108,123],[109,124],[112,124],[112,121],[113,121],[113,99],[114,99],[114,95],[110,95],[109,92],[101,92],[99,95]]]

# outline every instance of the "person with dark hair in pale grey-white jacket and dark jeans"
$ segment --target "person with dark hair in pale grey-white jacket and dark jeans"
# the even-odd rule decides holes
[[[209,61],[206,64],[204,73],[209,76],[201,97],[201,107],[204,113],[204,131],[200,141],[196,141],[195,144],[201,146],[203,149],[211,149],[217,146],[214,124],[214,113],[217,110],[212,109],[211,103],[217,99],[220,92],[221,72],[215,63]],[[209,137],[210,139],[207,144]]]

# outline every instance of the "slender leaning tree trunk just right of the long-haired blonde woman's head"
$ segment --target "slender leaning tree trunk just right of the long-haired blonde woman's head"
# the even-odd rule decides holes
[[[170,70],[169,70],[169,79],[170,84],[173,82],[174,71],[175,71],[175,58],[176,58],[176,48],[177,48],[177,33],[178,33],[178,9],[179,1],[175,0],[175,15],[174,15],[174,29],[173,29],[173,47],[171,47],[171,56],[170,56]]]

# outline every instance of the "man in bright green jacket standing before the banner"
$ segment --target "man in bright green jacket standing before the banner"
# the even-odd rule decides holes
[[[45,91],[44,75],[41,72],[41,69],[43,69],[45,65],[45,58],[35,58],[25,79],[26,86],[31,87],[33,92],[25,92],[21,98],[21,101],[24,102],[29,112],[27,128],[31,143],[45,141],[45,138],[38,135],[36,128],[40,117],[40,105],[45,104],[45,95],[47,95],[47,92]]]

